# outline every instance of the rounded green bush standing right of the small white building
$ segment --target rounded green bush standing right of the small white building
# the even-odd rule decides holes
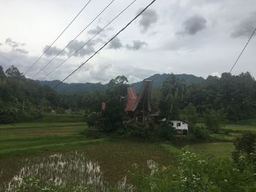
[[[203,118],[206,128],[208,128],[209,131],[218,133],[225,122],[225,113],[223,110],[208,110]]]

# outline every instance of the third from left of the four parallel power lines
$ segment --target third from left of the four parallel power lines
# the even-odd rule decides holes
[[[58,66],[56,66],[56,68],[54,68],[53,70],[51,70],[50,72],[48,72],[48,74],[46,74],[45,77],[48,77],[48,75],[50,75],[52,72],[54,72],[56,69],[58,69],[62,64],[64,64],[67,60],[69,60],[69,58],[71,58],[73,55],[75,55],[76,53],[78,53],[78,51],[80,51],[81,49],[83,49],[84,46],[86,46],[89,42],[91,42],[91,40],[93,40],[95,37],[97,37],[98,34],[100,34],[103,30],[105,30],[105,28],[107,28],[111,23],[113,23],[113,21],[116,20],[124,11],[126,11],[129,7],[131,7],[132,4],[135,3],[135,1],[137,1],[137,0],[132,1],[132,3],[130,3],[130,4],[129,4],[127,7],[125,7],[121,12],[119,12],[119,14],[116,15],[115,18],[113,18],[112,20],[110,20],[110,22],[109,22],[106,26],[104,26],[103,28],[101,28],[101,29],[97,32],[97,34],[94,34],[94,36],[91,37],[91,39],[89,39],[86,43],[84,43],[78,50],[76,50],[75,53],[72,53],[72,55],[69,55],[69,57],[66,58],[64,61],[62,61],[61,64],[59,64]],[[43,77],[43,78],[41,79],[41,81],[44,80],[45,77]]]

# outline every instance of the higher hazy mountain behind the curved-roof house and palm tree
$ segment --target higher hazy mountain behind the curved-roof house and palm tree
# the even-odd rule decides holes
[[[162,83],[166,80],[166,78],[169,76],[170,74],[154,74],[151,77],[146,78],[146,80],[153,80],[153,86],[154,87],[161,87]],[[202,82],[203,77],[197,77],[193,74],[176,74],[176,77],[178,79],[184,80],[184,82],[189,85],[192,83],[197,83],[197,82]],[[135,82],[132,83],[132,87],[134,87],[137,91],[140,90],[140,87],[142,85],[142,81],[140,82]]]

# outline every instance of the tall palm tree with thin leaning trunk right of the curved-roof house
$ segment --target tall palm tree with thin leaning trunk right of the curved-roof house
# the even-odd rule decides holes
[[[176,78],[175,74],[170,74],[169,77],[162,84],[162,96],[165,101],[170,103],[170,112],[167,118],[167,123],[169,123],[170,115],[173,110],[173,105],[176,104],[178,99],[184,95],[185,85],[184,82]]]

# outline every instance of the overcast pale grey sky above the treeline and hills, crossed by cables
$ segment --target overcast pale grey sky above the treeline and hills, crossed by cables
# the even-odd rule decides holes
[[[151,2],[135,1],[95,36],[133,0],[111,1],[0,0],[0,65],[4,69],[14,65],[25,73],[89,2],[26,73],[34,80],[63,80]],[[65,82],[106,83],[118,75],[137,82],[156,73],[220,76],[230,71],[255,27],[255,0],[157,0]],[[83,28],[86,30],[48,64]],[[232,74],[250,72],[256,77],[255,50],[256,34]],[[59,68],[45,77],[56,66]]]

